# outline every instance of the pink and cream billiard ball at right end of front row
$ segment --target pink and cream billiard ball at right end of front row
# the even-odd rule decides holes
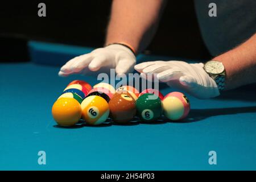
[[[171,120],[180,120],[187,117],[190,110],[188,98],[180,92],[171,92],[163,100],[164,115]]]

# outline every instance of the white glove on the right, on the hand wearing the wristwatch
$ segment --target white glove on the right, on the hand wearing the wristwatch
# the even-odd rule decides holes
[[[156,75],[159,81],[173,88],[184,90],[197,98],[205,99],[220,95],[218,86],[203,69],[203,63],[188,64],[184,61],[151,61],[135,65],[135,69],[146,77]]]

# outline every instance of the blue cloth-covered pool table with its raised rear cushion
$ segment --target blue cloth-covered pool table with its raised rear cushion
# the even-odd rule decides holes
[[[256,169],[255,85],[209,100],[188,95],[191,112],[181,122],[65,129],[52,118],[53,102],[72,80],[98,81],[94,76],[57,76],[62,64],[57,57],[67,61],[86,51],[47,43],[29,46],[32,61],[0,63],[1,170]],[[174,90],[162,86],[160,91]],[[38,164],[39,151],[46,152],[46,165]],[[217,152],[216,165],[208,163],[209,151]]]

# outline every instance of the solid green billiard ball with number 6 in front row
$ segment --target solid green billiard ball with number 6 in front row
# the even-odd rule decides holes
[[[162,102],[153,93],[144,93],[136,101],[137,115],[142,121],[156,121],[163,113]]]

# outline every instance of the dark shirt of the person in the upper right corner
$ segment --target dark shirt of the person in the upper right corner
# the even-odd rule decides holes
[[[238,46],[256,32],[256,0],[194,0],[204,43],[212,56]],[[217,16],[208,7],[216,3]]]

